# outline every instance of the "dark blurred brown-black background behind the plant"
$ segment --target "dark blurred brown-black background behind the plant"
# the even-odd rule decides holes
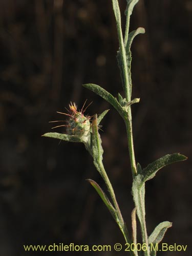
[[[124,26],[126,1],[119,2]],[[136,160],[145,167],[168,153],[188,156],[147,182],[148,234],[172,221],[164,242],[188,245],[185,253],[159,253],[164,256],[191,255],[191,10],[189,0],[140,0],[131,17],[130,30],[146,30],[132,46],[133,98],[141,98],[132,108]],[[56,111],[65,112],[70,101],[79,108],[93,101],[89,115],[111,109],[100,132],[104,165],[130,229],[134,205],[123,121],[81,86],[92,82],[123,94],[111,1],[1,0],[0,26],[1,256],[41,255],[25,252],[23,244],[124,243],[86,181],[94,179],[106,190],[84,146],[41,137],[51,131],[49,121],[63,118]]]

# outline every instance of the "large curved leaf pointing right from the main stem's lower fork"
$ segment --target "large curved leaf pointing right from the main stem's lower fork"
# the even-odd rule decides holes
[[[142,184],[147,180],[152,179],[156,175],[158,170],[163,168],[164,166],[171,163],[184,161],[186,159],[187,157],[180,155],[179,153],[174,153],[172,155],[165,155],[157,159],[156,161],[150,163],[149,165],[146,166],[146,168],[142,170],[140,186],[142,186]]]

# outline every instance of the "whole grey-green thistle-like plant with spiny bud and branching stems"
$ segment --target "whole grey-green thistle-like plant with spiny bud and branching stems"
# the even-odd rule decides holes
[[[142,168],[141,165],[135,160],[135,153],[134,153],[134,143],[133,143],[133,131],[132,131],[132,112],[131,106],[134,103],[139,102],[139,98],[132,99],[132,79],[131,79],[131,45],[133,39],[136,35],[142,34],[145,32],[143,28],[138,28],[132,32],[129,32],[130,27],[130,16],[132,14],[134,6],[138,3],[139,0],[126,0],[127,7],[125,10],[126,15],[126,24],[125,24],[125,32],[124,36],[122,33],[121,28],[121,15],[120,9],[118,5],[118,0],[112,0],[113,11],[115,14],[116,25],[117,25],[117,34],[119,39],[119,50],[117,52],[117,60],[118,66],[121,73],[122,78],[122,86],[125,93],[125,98],[123,98],[118,93],[118,99],[114,97],[112,94],[97,86],[96,84],[83,84],[83,87],[88,88],[89,90],[93,91],[94,93],[101,96],[104,100],[108,101],[120,116],[123,118],[125,126],[126,126],[126,133],[127,133],[127,141],[129,147],[129,157],[131,162],[131,170],[133,176],[133,185],[132,185],[132,195],[133,200],[135,203],[135,208],[132,211],[132,236],[127,230],[126,224],[123,220],[119,205],[116,200],[116,196],[114,193],[113,186],[106,174],[106,171],[103,166],[102,162],[102,155],[103,149],[101,146],[101,138],[99,135],[99,123],[101,122],[102,118],[108,112],[108,110],[104,111],[97,117],[97,114],[91,118],[90,116],[84,115],[84,111],[86,109],[83,108],[78,111],[77,106],[75,103],[70,104],[70,110],[68,113],[61,113],[68,117],[66,124],[58,125],[58,126],[66,126],[66,134],[61,133],[46,133],[43,136],[56,138],[65,141],[72,141],[72,142],[81,142],[84,143],[86,149],[93,157],[93,162],[98,170],[99,174],[101,175],[102,179],[104,180],[106,187],[108,188],[108,192],[110,198],[106,196],[103,192],[101,187],[93,180],[89,179],[88,181],[91,185],[95,188],[98,195],[108,207],[111,215],[113,216],[114,220],[118,224],[123,237],[126,243],[129,244],[137,244],[137,227],[136,227],[136,215],[139,220],[140,230],[141,230],[141,237],[142,237],[142,251],[137,250],[130,250],[129,253],[131,256],[155,256],[157,253],[157,247],[155,245],[159,244],[159,242],[163,239],[164,234],[167,228],[172,226],[172,223],[165,221],[160,223],[154,231],[148,236],[146,223],[145,223],[145,182],[154,178],[156,173],[162,167],[178,162],[186,160],[187,158],[179,153],[174,153],[170,155],[165,155],[156,161],[148,164],[145,168]],[[59,112],[60,113],[60,112]],[[57,121],[54,121],[57,122]],[[58,127],[56,126],[56,127]],[[151,246],[151,245],[154,245]]]

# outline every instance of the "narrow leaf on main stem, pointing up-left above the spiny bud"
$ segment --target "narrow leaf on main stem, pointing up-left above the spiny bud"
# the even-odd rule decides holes
[[[119,102],[117,101],[117,99],[115,97],[113,97],[113,95],[111,93],[109,93],[108,91],[104,90],[100,86],[97,86],[96,84],[93,84],[93,83],[83,84],[83,87],[91,90],[92,92],[96,93],[97,95],[99,95],[100,97],[102,97],[103,99],[108,101],[112,106],[114,106],[114,108],[119,112],[119,114],[123,118],[124,118],[124,116],[127,115],[126,112],[122,109],[122,107],[119,104]]]

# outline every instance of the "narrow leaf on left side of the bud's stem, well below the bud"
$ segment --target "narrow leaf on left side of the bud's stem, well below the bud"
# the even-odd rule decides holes
[[[111,215],[113,216],[113,218],[115,220],[117,220],[116,210],[113,207],[112,203],[110,202],[109,198],[105,195],[105,193],[101,189],[101,187],[94,180],[88,179],[88,181],[95,188],[95,190],[97,191],[98,195],[100,196],[100,198],[102,199],[102,201],[106,205],[106,207],[108,207],[108,209],[111,212]]]

